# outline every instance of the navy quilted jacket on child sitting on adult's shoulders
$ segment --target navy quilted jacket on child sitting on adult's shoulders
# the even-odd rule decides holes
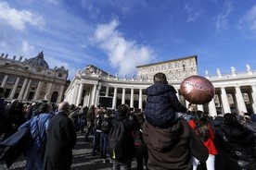
[[[145,115],[151,125],[168,128],[175,118],[175,112],[185,113],[173,86],[157,83],[147,88]]]

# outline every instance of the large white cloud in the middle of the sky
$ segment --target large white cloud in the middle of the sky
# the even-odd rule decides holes
[[[153,61],[153,50],[134,41],[125,40],[117,30],[118,25],[117,19],[113,19],[109,24],[98,25],[94,39],[107,53],[111,67],[117,68],[120,75],[131,75],[135,72],[134,67]]]

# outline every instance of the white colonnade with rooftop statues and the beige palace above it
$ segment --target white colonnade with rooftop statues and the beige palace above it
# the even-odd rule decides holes
[[[79,70],[65,92],[64,100],[83,106],[101,104],[111,109],[121,103],[141,111],[147,103],[146,89],[153,84],[153,75],[163,72],[173,85],[181,103],[188,102],[180,94],[181,82],[189,76],[198,75],[197,55],[182,57],[160,63],[138,66],[137,76],[128,79],[118,75],[110,75],[100,68],[89,65]],[[210,115],[221,113],[256,113],[256,72],[250,66],[245,71],[237,73],[231,67],[229,74],[222,74],[218,68],[216,75],[210,76],[206,71],[205,78],[209,79],[215,88],[214,98],[210,103],[197,105],[198,110],[209,112]]]

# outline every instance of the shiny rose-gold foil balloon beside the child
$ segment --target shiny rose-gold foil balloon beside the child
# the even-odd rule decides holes
[[[201,76],[190,76],[183,80],[181,94],[190,103],[210,103],[214,97],[214,87],[209,79]]]

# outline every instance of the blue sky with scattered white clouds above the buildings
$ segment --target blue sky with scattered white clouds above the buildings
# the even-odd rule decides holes
[[[255,0],[0,0],[0,53],[31,58],[69,79],[93,64],[115,75],[198,55],[198,74],[256,68]]]

